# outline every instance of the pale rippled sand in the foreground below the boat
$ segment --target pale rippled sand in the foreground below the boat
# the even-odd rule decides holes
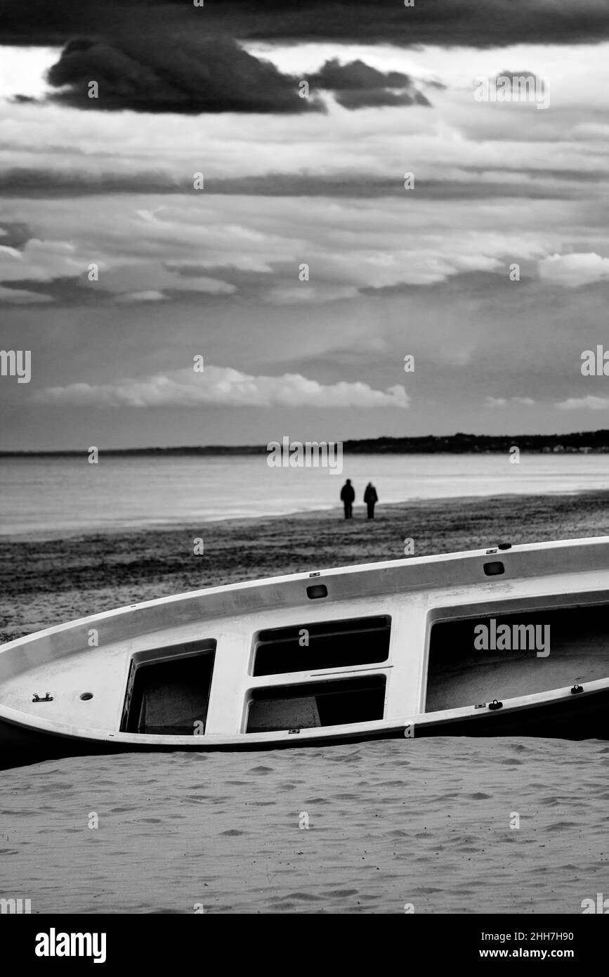
[[[609,743],[125,754],[1,776],[0,894],[32,913],[581,913],[608,891]]]

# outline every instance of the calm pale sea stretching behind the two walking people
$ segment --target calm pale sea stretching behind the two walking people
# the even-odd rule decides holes
[[[269,468],[245,457],[5,458],[0,534],[176,526],[339,505],[345,478],[360,504],[372,480],[385,502],[609,488],[609,454],[349,455],[342,475]]]

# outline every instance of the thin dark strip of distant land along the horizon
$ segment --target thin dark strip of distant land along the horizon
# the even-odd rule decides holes
[[[298,442],[296,442],[298,443]],[[323,441],[318,444],[325,444]],[[303,442],[302,444],[316,444]],[[424,435],[407,438],[366,438],[337,442],[343,445],[344,454],[505,454],[510,447],[520,451],[548,454],[606,454],[609,453],[609,430],[576,431],[571,434],[527,435],[476,435],[454,434],[447,436]],[[105,456],[243,456],[264,454],[264,445],[183,445],[176,447],[100,447]],[[65,450],[0,450],[0,458],[55,458],[82,457],[88,447]]]

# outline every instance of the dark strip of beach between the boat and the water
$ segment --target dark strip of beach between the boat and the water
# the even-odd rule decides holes
[[[0,537],[0,643],[204,587],[404,557],[609,535],[609,490],[420,499],[167,529]],[[195,555],[195,540],[203,554]],[[200,547],[199,547],[200,548]],[[410,554],[409,554],[410,555]]]

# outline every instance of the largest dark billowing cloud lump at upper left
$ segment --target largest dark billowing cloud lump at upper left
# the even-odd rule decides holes
[[[298,80],[254,58],[230,38],[193,41],[146,31],[118,42],[70,41],[49,71],[55,102],[77,108],[145,112],[303,112]],[[97,81],[99,97],[90,98]]]

